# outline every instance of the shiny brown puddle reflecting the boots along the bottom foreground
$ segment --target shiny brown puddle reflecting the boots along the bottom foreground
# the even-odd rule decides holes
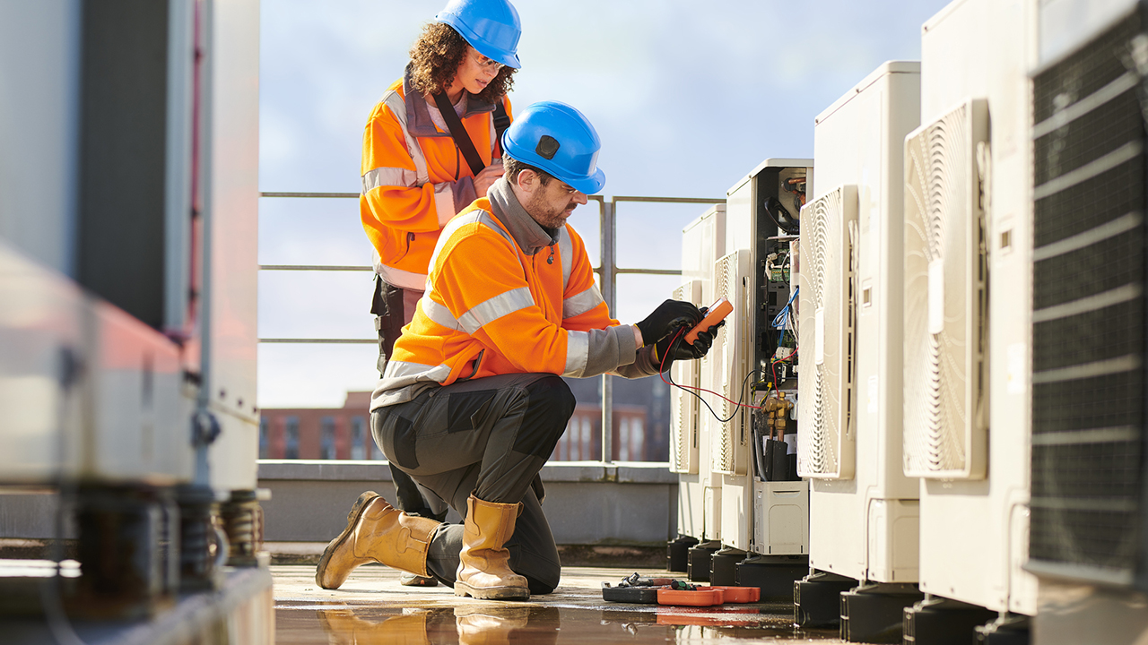
[[[279,603],[278,645],[374,644],[642,644],[819,640],[841,643],[837,630],[793,628],[791,605],[618,608],[515,606],[396,608],[342,603]]]

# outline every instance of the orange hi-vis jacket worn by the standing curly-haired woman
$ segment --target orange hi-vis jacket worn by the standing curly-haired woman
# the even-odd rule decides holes
[[[503,98],[510,115],[510,100]],[[494,103],[467,95],[463,126],[487,164],[498,151]],[[450,132],[430,119],[426,100],[410,88],[410,65],[371,111],[363,133],[359,217],[375,254],[375,272],[421,290],[443,225],[474,201],[474,173]]]

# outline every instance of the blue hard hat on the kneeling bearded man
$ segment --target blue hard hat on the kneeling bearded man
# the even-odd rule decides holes
[[[585,194],[606,184],[598,166],[602,140],[582,112],[558,101],[526,107],[502,139],[506,155],[542,169]]]

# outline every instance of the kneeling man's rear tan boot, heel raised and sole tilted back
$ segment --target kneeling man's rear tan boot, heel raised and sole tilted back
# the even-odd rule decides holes
[[[367,562],[429,575],[427,550],[440,523],[408,515],[374,491],[364,492],[347,515],[347,528],[323,552],[315,582],[324,589],[339,589],[356,567]]]

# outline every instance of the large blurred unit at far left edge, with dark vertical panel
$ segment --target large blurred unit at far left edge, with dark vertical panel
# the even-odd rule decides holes
[[[194,48],[177,44],[194,21],[164,5],[116,16],[141,34],[132,44],[102,29],[114,8],[0,7],[3,481],[192,477],[191,351],[164,334],[164,304],[191,293],[165,261],[169,242],[186,247],[192,234],[191,197],[176,197],[168,172],[193,157],[172,132],[191,132],[176,72],[194,65]],[[169,219],[177,202],[185,226]]]

